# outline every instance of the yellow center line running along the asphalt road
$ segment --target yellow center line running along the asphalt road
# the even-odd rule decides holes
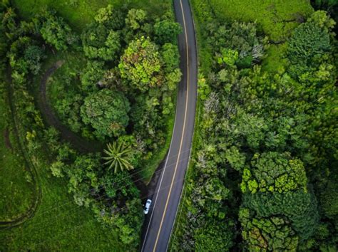
[[[182,144],[183,144],[183,137],[184,137],[184,131],[185,131],[185,121],[187,119],[187,110],[188,110],[188,95],[189,95],[189,50],[188,50],[188,36],[187,36],[187,28],[185,26],[185,16],[184,16],[184,11],[183,11],[183,4],[182,4],[182,0],[180,0],[180,8],[182,10],[182,16],[183,16],[183,26],[184,26],[184,31],[185,31],[185,46],[186,46],[186,51],[187,51],[187,95],[185,98],[185,114],[184,114],[184,120],[183,120],[183,131],[182,131],[182,137],[180,139],[180,149],[178,150],[178,159],[176,160],[176,165],[175,165],[175,170],[174,170],[174,174],[173,174],[173,179],[171,180],[171,184],[170,184],[170,189],[169,189],[169,194],[167,197],[167,201],[165,202],[165,208],[163,211],[163,216],[162,219],[160,221],[160,228],[158,229],[158,235],[156,236],[156,241],[155,241],[155,245],[153,248],[153,252],[155,252],[156,250],[156,246],[158,244],[158,238],[160,237],[160,231],[162,229],[162,224],[163,224],[163,220],[165,217],[165,212],[167,211],[167,207],[168,207],[168,202],[170,199],[170,194],[171,194],[171,189],[173,189],[173,183],[175,180],[175,174],[178,168],[178,160],[180,159],[180,152],[182,149]]]

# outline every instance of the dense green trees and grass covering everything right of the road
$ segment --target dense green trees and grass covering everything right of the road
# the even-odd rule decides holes
[[[337,251],[334,21],[308,1],[191,3],[201,108],[171,250]]]

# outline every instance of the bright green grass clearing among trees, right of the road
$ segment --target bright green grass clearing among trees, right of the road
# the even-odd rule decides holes
[[[209,0],[214,14],[226,21],[257,22],[272,45],[262,63],[263,70],[282,72],[287,62],[283,58],[284,42],[292,31],[312,14],[308,0]],[[275,43],[275,44],[274,44]]]

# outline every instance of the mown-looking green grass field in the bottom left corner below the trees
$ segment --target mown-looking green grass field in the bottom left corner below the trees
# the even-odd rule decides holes
[[[103,229],[93,213],[77,206],[66,179],[38,167],[42,201],[34,217],[19,227],[0,231],[0,251],[126,251],[116,231]]]

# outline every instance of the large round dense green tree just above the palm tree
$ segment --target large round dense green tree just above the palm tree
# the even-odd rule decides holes
[[[83,122],[95,129],[98,139],[118,137],[128,125],[130,110],[127,98],[118,92],[103,89],[84,99],[81,106]]]

